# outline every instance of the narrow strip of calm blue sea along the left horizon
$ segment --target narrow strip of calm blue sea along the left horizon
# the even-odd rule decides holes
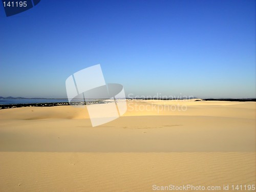
[[[24,104],[24,103],[59,103],[69,102],[68,99],[0,99],[0,104]]]

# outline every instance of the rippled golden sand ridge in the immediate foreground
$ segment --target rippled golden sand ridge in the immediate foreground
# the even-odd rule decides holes
[[[154,184],[254,184],[255,160],[255,153],[1,152],[0,190],[152,191]]]

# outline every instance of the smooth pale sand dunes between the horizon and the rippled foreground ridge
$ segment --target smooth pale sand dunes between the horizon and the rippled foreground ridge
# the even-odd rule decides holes
[[[0,150],[254,152],[255,103],[228,103],[180,101],[186,110],[173,111],[166,106],[175,106],[178,101],[133,100],[127,103],[124,116],[98,127],[91,127],[86,108],[1,110]]]

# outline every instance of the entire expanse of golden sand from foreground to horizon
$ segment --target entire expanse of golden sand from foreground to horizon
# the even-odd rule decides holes
[[[86,108],[0,110],[0,191],[255,185],[255,102],[126,104],[123,116],[96,127]]]

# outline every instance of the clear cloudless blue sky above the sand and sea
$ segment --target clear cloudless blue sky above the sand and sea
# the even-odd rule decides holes
[[[67,77],[98,63],[126,96],[256,94],[252,0],[41,0],[2,6],[0,25],[0,96],[67,97]]]

